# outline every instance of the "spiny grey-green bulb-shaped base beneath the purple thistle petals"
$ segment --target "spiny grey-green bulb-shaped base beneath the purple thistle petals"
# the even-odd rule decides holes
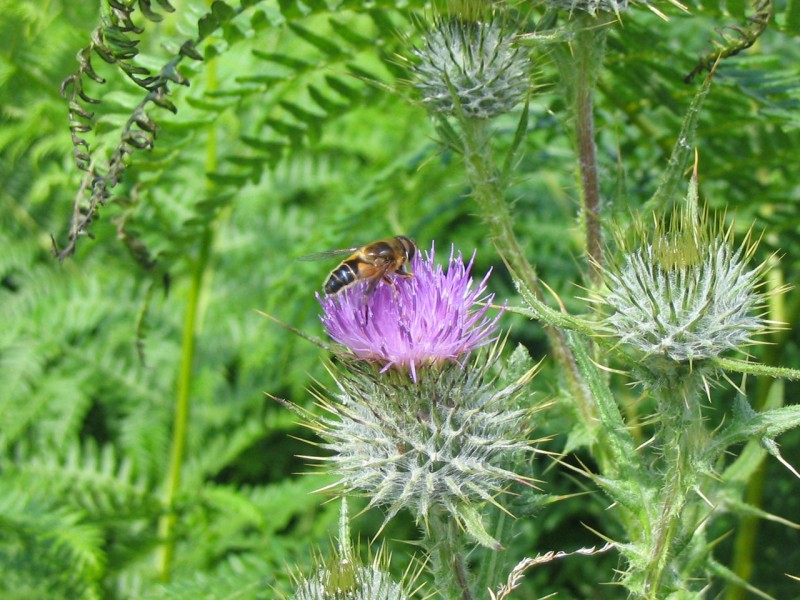
[[[532,371],[495,389],[487,371],[496,351],[476,357],[475,366],[421,370],[416,383],[346,361],[346,370],[333,373],[339,393],[319,398],[329,415],[312,424],[333,452],[321,460],[340,477],[338,487],[388,507],[385,522],[402,508],[424,525],[445,512],[476,541],[497,547],[476,517],[511,483],[525,483],[511,469],[532,451],[530,410],[513,404]]]

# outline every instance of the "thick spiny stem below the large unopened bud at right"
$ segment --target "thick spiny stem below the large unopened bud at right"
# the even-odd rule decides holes
[[[652,536],[643,568],[642,597],[665,598],[675,591],[666,582],[668,570],[679,572],[676,541],[682,532],[693,531],[686,510],[689,493],[697,486],[708,447],[708,433],[700,410],[700,376],[676,376],[657,392],[662,421],[659,437],[664,464],[657,512],[651,518]],[[646,508],[645,508],[646,510]]]

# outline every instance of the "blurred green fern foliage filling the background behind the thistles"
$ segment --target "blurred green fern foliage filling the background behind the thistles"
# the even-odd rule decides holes
[[[435,241],[443,254],[451,245],[467,255],[477,249],[476,274],[493,268],[490,286],[510,304],[515,291],[475,216],[460,157],[441,151],[424,109],[408,101],[398,55],[416,35],[415,16],[429,14],[424,3],[172,0],[174,12],[160,2],[124,4],[137,8],[133,20],[144,29],[131,36],[140,40],[133,64],[157,73],[198,36],[199,22],[204,60],[178,66],[190,85],[171,85],[175,114],[147,106],[157,125],[152,150],[131,153],[92,237],[81,237],[61,263],[51,236],[67,245],[84,173],[73,161],[59,87],[111,3],[0,4],[0,594],[278,597],[290,591],[295,565],[308,568],[315,549],[328,547],[339,508],[311,493],[329,479],[302,474],[309,467],[297,455],[319,450],[298,438],[314,441],[312,432],[267,395],[311,406],[308,388],[330,383],[319,348],[257,312],[323,335],[314,293],[334,264],[295,259],[407,234],[422,248]],[[798,4],[775,2],[756,45],[719,65],[693,142],[703,200],[735,218],[739,237],[753,223],[763,232],[756,259],[778,253],[769,284],[776,286],[793,284],[800,270]],[[144,18],[143,7],[163,18]],[[691,3],[688,13],[659,7],[668,21],[641,5],[623,15],[598,82],[608,228],[624,226],[655,191],[705,75],[692,84],[684,76],[720,39],[717,30],[744,25],[752,13],[744,1]],[[531,28],[546,14],[544,3],[512,8]],[[209,11],[216,21],[202,21]],[[584,312],[569,115],[547,46],[530,50],[536,91],[509,201],[542,280],[571,311]],[[86,105],[94,129],[82,135],[102,163],[145,91],[119,65],[96,57],[92,65],[106,82],[84,78],[86,93],[102,103]],[[516,123],[509,115],[494,124],[498,148],[511,143]],[[753,348],[767,364],[800,366],[798,298],[792,290],[771,307],[787,325],[771,345]],[[560,452],[573,424],[557,402],[559,373],[541,327],[510,314],[503,326],[511,328],[509,351],[521,343],[545,357],[533,401],[556,402],[540,413],[537,435],[553,436],[546,449]],[[167,582],[156,566],[156,524],[192,332]],[[618,383],[631,422],[646,420],[651,407]],[[798,392],[797,384],[747,386],[756,403],[794,402]],[[715,419],[725,418],[731,398],[715,392]],[[781,443],[800,465],[798,434]],[[552,463],[540,468],[546,493],[590,493],[535,515],[520,501],[502,557],[509,565],[596,545],[589,528],[616,533],[602,494]],[[759,473],[748,492],[754,503],[789,520],[800,514],[800,482],[774,460]],[[365,513],[353,527],[366,540],[380,522]],[[713,523],[720,562],[731,564],[739,544],[746,577],[776,598],[797,596],[784,575],[800,575],[797,530],[760,521],[748,541],[743,525],[724,516]],[[416,535],[401,519],[383,536],[398,572]],[[616,560],[552,563],[528,575],[519,597],[621,597],[621,589],[597,587],[613,580]]]

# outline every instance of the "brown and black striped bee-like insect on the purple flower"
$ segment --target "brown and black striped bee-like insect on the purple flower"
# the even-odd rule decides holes
[[[414,240],[398,235],[371,242],[360,248],[309,254],[302,257],[301,260],[316,260],[326,256],[349,254],[350,256],[340,262],[339,266],[328,275],[323,286],[325,294],[333,296],[363,281],[367,284],[365,296],[369,296],[381,281],[393,285],[390,275],[411,277],[411,273],[406,270],[406,265],[414,259],[416,253],[417,244]]]

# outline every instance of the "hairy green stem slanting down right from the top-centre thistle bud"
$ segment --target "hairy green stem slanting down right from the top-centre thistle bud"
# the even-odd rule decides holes
[[[525,257],[514,234],[511,212],[505,201],[508,186],[495,166],[491,148],[489,122],[479,119],[461,119],[464,141],[464,161],[467,176],[472,185],[472,194],[481,210],[481,215],[489,225],[492,239],[498,252],[508,262],[514,275],[530,289],[539,302],[544,294],[539,277]],[[545,333],[553,356],[561,365],[571,396],[584,426],[597,430],[597,407],[594,398],[583,384],[575,358],[564,340],[561,331],[545,327]]]

